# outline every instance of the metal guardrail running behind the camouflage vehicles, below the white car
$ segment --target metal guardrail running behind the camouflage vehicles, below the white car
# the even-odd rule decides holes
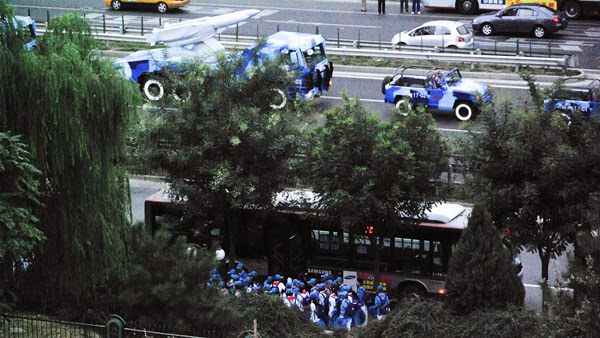
[[[106,31],[106,29],[104,29]],[[110,31],[115,31],[114,29]],[[146,38],[139,34],[129,34],[125,32],[100,32],[95,33],[94,37],[104,41],[124,41],[124,42],[146,42]],[[45,32],[45,25],[38,26],[38,33]],[[132,32],[133,33],[133,32]],[[242,35],[220,35],[220,42],[226,48],[245,48],[251,46],[256,41],[255,36]],[[560,68],[567,71],[569,67],[576,66],[576,59],[565,55],[563,57],[533,57],[520,55],[483,55],[480,51],[471,51],[470,54],[458,52],[440,52],[439,49],[433,48],[429,51],[405,51],[395,49],[370,49],[370,48],[354,48],[354,47],[331,47],[335,45],[331,41],[327,47],[327,52],[331,55],[341,56],[359,56],[359,57],[374,57],[374,58],[390,58],[390,59],[411,59],[411,60],[426,60],[438,62],[460,62],[474,64],[495,64],[508,65],[517,67],[533,66],[533,67],[552,67]],[[339,45],[339,43],[338,43]]]

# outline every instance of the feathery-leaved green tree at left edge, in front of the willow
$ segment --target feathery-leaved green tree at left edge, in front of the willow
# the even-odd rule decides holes
[[[19,137],[0,132],[0,313],[8,308],[15,273],[46,239],[34,216],[40,207],[40,174]]]

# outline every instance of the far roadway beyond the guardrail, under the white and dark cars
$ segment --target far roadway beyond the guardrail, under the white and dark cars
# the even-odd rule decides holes
[[[120,24],[122,17],[127,24],[139,25],[143,16],[148,21],[176,22],[206,15],[219,15],[240,9],[255,8],[262,10],[259,18],[241,27],[242,34],[269,35],[277,30],[292,30],[319,33],[327,39],[347,39],[354,41],[381,41],[384,48],[389,47],[394,34],[402,30],[416,27],[426,21],[449,19],[461,21],[470,26],[474,15],[459,15],[454,11],[424,9],[422,15],[399,14],[399,4],[388,1],[386,15],[377,15],[375,1],[368,2],[368,11],[360,12],[358,0],[280,0],[280,1],[248,1],[221,0],[218,2],[192,3],[182,9],[159,15],[153,10],[126,10],[115,12],[109,9],[102,0],[56,0],[52,5],[44,0],[13,0],[17,14],[28,12],[36,21],[43,22],[47,17],[54,17],[65,11],[83,10],[91,20],[102,20],[104,15],[108,23]],[[517,46],[518,44],[518,46]],[[552,55],[573,54],[579,59],[580,68],[594,68],[594,59],[600,56],[600,26],[598,19],[584,19],[569,22],[566,30],[549,39],[538,40],[529,36],[494,36],[476,35],[475,45],[478,48],[516,51],[525,53],[533,49]]]

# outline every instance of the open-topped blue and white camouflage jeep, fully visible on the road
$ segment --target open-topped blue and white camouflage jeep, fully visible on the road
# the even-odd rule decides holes
[[[467,121],[478,111],[480,103],[491,100],[490,86],[462,78],[458,68],[447,73],[406,75],[406,68],[386,76],[381,91],[384,101],[400,108],[424,106],[428,109],[454,112],[461,121]]]

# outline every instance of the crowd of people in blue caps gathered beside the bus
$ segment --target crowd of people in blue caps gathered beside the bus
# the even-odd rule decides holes
[[[226,273],[225,278],[211,271],[209,286],[220,288],[225,295],[270,295],[279,297],[290,308],[295,308],[312,322],[324,328],[347,329],[366,326],[369,317],[382,319],[390,311],[390,300],[383,287],[371,295],[357,280],[356,286],[345,284],[341,277],[328,274],[321,278],[286,278],[279,274],[268,276],[262,283],[256,272],[246,272],[242,264]]]

